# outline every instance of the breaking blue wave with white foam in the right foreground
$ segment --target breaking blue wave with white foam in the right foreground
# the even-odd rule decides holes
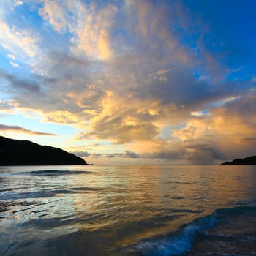
[[[217,209],[213,214],[195,219],[192,223],[182,228],[176,236],[151,239],[134,245],[133,248],[143,255],[170,256],[184,255],[192,247],[195,238],[200,233],[207,233],[208,229],[217,225],[217,222],[227,222],[230,217],[242,216],[246,214],[255,215],[256,207],[238,206],[234,208]]]

